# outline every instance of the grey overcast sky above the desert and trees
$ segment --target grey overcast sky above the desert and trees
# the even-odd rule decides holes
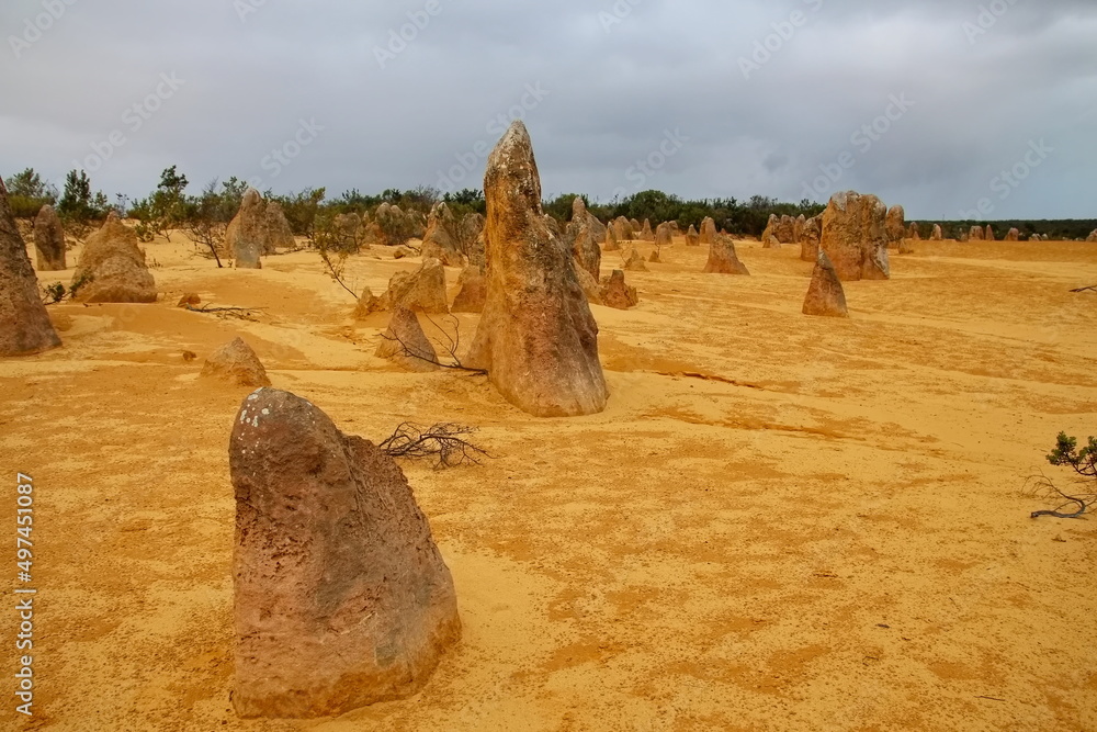
[[[1097,216],[1095,0],[3,0],[0,27],[0,174],[109,195],[171,165],[480,188],[521,115],[546,196]]]

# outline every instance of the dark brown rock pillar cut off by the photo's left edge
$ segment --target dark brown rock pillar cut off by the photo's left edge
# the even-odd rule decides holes
[[[26,356],[60,345],[0,180],[0,356]]]

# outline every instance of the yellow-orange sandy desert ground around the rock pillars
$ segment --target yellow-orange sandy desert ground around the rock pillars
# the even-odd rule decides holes
[[[65,347],[0,361],[0,526],[31,474],[41,588],[37,716],[2,688],[0,727],[1097,730],[1097,530],[1030,519],[1050,506],[1026,488],[1070,485],[1043,460],[1060,430],[1097,433],[1097,294],[1067,292],[1097,283],[1097,246],[919,243],[892,281],[847,284],[841,320],[800,314],[796,247],[742,244],[740,278],[679,243],[629,274],[637,308],[592,308],[607,410],[543,420],[483,379],[375,359],[385,316],[355,324],[314,254],[218,270],[172,239],[147,247],[159,303],[52,306]],[[349,279],[380,293],[416,264],[375,249]],[[190,291],[264,309],[176,308]],[[227,443],[248,390],[199,371],[237,335],[347,432],[459,421],[494,457],[404,464],[464,622],[412,699],[233,712]]]

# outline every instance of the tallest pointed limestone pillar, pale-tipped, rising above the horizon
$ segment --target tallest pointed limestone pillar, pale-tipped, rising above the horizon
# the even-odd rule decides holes
[[[540,417],[601,412],[609,392],[598,325],[572,252],[541,207],[525,125],[514,122],[488,158],[487,304],[467,365],[486,369],[511,404]]]

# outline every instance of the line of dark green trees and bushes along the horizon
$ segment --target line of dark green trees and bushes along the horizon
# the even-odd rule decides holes
[[[185,174],[171,166],[160,173],[160,182],[146,198],[131,201],[117,194],[112,202],[100,192],[93,192],[88,174],[72,170],[66,176],[65,190],[58,192],[45,182],[32,168],[7,179],[9,199],[18,218],[32,218],[38,210],[50,204],[66,223],[86,225],[104,218],[110,210],[137,221],[138,235],[151,240],[156,235],[170,237],[179,228],[196,225],[225,225],[231,221],[240,207],[247,183],[233,177],[227,181],[211,181],[197,195],[188,195],[190,182]],[[572,204],[579,194],[564,193],[544,201],[546,213],[562,225],[572,216]],[[281,204],[290,227],[297,236],[312,237],[317,217],[331,218],[338,214],[355,213],[366,217],[382,203],[398,205],[405,212],[416,212],[422,216],[438,201],[445,201],[455,216],[470,213],[486,213],[484,192],[464,189],[442,193],[438,189],[419,187],[412,190],[387,189],[377,194],[364,194],[358,189],[344,191],[336,199],[328,199],[324,188],[308,188],[284,195],[268,190],[263,198]],[[760,236],[771,214],[806,217],[821,213],[823,204],[808,200],[785,203],[767,196],[755,195],[748,201],[730,199],[687,200],[663,191],[642,191],[623,200],[609,203],[591,202],[581,196],[587,209],[602,221],[619,216],[649,219],[654,225],[676,221],[681,228],[694,226],[711,216],[716,227],[731,234]],[[923,238],[928,238],[937,222],[916,222]],[[1010,228],[1017,228],[1026,238],[1032,234],[1047,234],[1053,239],[1085,238],[1097,228],[1097,219],[1067,221],[995,221],[995,222],[940,222],[947,238],[955,238],[974,225],[991,224],[998,237]]]

